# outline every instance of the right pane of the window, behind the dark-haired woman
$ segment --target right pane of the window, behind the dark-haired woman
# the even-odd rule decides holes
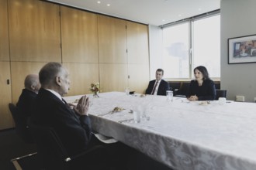
[[[220,15],[199,19],[193,27],[194,67],[206,66],[210,77],[220,78]]]

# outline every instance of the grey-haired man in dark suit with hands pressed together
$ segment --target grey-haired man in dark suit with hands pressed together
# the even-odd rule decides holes
[[[92,127],[88,117],[88,97],[81,97],[74,110],[62,99],[70,86],[67,70],[61,63],[47,63],[40,70],[39,78],[42,87],[33,105],[33,124],[54,128],[69,155],[93,147],[90,143]],[[86,169],[108,169],[107,152],[96,152],[92,153],[93,155],[85,155],[84,160],[77,166],[85,166]]]

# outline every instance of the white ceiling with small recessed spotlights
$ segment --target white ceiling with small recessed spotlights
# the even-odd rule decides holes
[[[220,8],[220,0],[48,0],[121,19],[162,26]],[[100,2],[100,3],[98,3]],[[109,6],[108,6],[109,4]]]

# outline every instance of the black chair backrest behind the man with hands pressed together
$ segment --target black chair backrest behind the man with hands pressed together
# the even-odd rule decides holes
[[[43,168],[68,169],[68,155],[53,128],[33,124],[29,119],[29,131],[36,141],[37,152]]]

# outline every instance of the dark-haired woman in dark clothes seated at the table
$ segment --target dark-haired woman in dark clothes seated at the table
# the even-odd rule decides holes
[[[216,89],[213,80],[209,79],[205,66],[197,66],[194,69],[195,80],[191,80],[187,98],[195,100],[214,100]]]

